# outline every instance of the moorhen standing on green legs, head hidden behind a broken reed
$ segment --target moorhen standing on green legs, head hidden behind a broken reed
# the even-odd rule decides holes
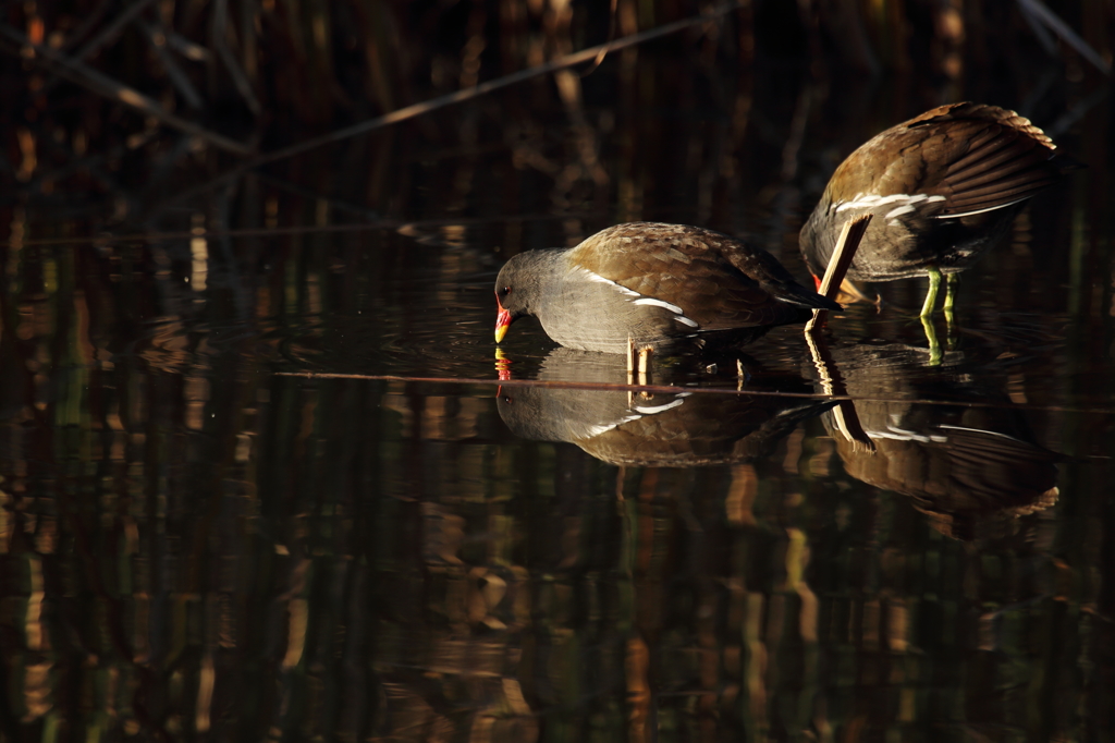
[[[847,278],[928,274],[924,318],[942,273],[949,277],[948,310],[956,272],[1006,233],[1027,200],[1078,166],[1012,110],[940,106],[876,135],[841,163],[802,228],[802,253],[821,277],[844,222],[874,214]]]

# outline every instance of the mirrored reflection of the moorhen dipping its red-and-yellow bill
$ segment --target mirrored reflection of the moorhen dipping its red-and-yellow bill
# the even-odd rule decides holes
[[[584,357],[579,358],[579,357]],[[593,358],[595,357],[595,358]],[[601,355],[555,349],[541,379],[601,379]],[[607,357],[605,357],[607,358]],[[582,363],[583,361],[583,363]],[[614,365],[612,373],[622,374]],[[785,385],[779,389],[786,392]],[[796,379],[794,392],[807,392]],[[571,442],[609,464],[695,466],[745,462],[768,453],[801,421],[831,403],[775,395],[672,393],[553,386],[503,387],[500,415],[534,441]]]

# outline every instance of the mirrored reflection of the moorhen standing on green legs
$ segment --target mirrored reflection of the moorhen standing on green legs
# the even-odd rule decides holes
[[[822,417],[847,473],[910,496],[958,538],[1056,502],[1060,456],[1034,443],[1009,399],[964,382],[960,367],[927,377],[924,354],[898,345],[831,351],[847,394],[866,398],[854,405],[871,445],[850,435],[837,411]]]

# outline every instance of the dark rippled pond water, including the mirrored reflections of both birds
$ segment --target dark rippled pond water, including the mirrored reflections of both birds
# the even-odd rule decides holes
[[[911,280],[629,392],[529,320],[497,365],[507,257],[653,219],[804,276],[832,166],[933,102],[612,64],[659,85],[4,206],[0,737],[1111,740],[1109,104],[939,363]]]

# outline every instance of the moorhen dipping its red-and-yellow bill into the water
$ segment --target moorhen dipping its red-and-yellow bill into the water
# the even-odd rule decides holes
[[[776,325],[840,305],[799,284],[765,250],[683,224],[632,222],[566,250],[512,258],[495,284],[496,342],[533,315],[553,340],[626,353],[748,342]]]

